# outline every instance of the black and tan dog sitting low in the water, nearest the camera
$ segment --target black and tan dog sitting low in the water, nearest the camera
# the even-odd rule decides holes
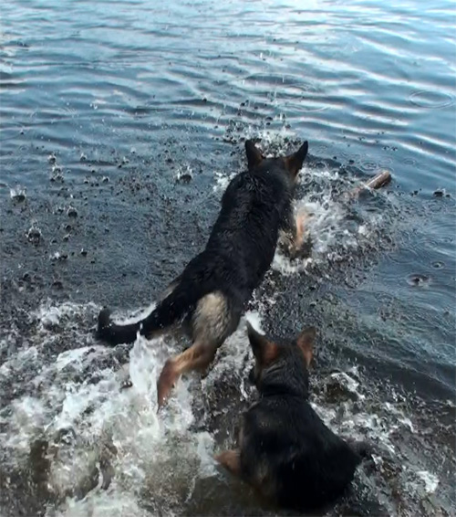
[[[247,325],[260,399],[243,416],[239,448],[216,459],[279,506],[320,509],[347,489],[368,446],[338,438],[308,402],[315,329],[278,344]]]

